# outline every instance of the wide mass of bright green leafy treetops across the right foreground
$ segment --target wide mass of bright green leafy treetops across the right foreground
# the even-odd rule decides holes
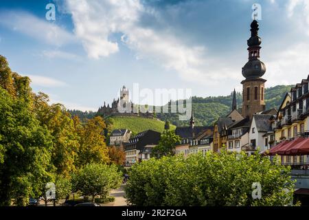
[[[285,206],[293,200],[290,168],[245,153],[209,152],[135,164],[126,185],[137,206]],[[259,183],[261,199],[252,196]]]

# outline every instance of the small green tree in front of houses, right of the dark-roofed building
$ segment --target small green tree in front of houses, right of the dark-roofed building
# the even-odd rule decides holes
[[[161,134],[159,144],[152,149],[152,157],[163,157],[172,155],[175,145],[181,142],[181,137],[174,131],[166,130]]]

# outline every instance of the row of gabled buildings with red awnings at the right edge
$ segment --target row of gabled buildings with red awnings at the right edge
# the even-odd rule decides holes
[[[281,155],[283,164],[308,164],[309,151],[292,151],[302,140],[309,136],[309,75],[290,89],[282,101],[277,117],[273,122],[275,143],[271,155]],[[303,143],[304,144],[304,143]],[[282,146],[282,147],[280,147]],[[284,146],[284,147],[283,147]],[[308,145],[309,146],[309,145]]]

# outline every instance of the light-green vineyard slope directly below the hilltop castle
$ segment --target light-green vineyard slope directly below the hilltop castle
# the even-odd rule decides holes
[[[106,118],[108,130],[129,129],[133,134],[151,129],[153,131],[162,132],[165,122],[156,119],[139,118],[134,116],[112,116]],[[170,124],[170,129],[176,129],[176,126]]]

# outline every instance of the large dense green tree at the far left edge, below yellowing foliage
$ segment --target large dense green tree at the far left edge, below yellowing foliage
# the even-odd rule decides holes
[[[0,205],[24,206],[53,180],[52,136],[40,126],[30,103],[0,87]]]

